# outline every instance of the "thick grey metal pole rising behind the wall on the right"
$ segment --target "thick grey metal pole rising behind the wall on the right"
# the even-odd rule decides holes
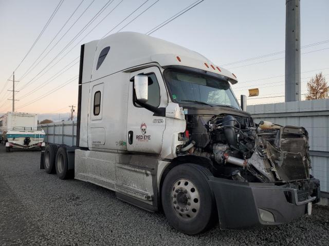
[[[300,101],[300,0],[286,0],[285,50],[285,101]]]

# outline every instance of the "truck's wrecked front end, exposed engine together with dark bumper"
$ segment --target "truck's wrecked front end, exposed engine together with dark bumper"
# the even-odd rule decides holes
[[[180,158],[210,163],[209,181],[223,229],[289,222],[320,200],[309,174],[308,134],[302,127],[254,124],[241,115],[186,115]]]

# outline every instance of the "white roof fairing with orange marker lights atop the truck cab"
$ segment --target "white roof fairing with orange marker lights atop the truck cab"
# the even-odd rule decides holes
[[[92,80],[142,64],[156,62],[161,67],[180,65],[206,70],[228,77],[231,84],[237,83],[237,79],[232,73],[224,68],[220,68],[221,71],[218,71],[218,66],[205,56],[160,38],[137,32],[118,32],[97,41]],[[96,69],[100,52],[108,46],[110,49],[107,56],[99,69]],[[181,61],[178,61],[177,56]],[[206,67],[205,63],[209,67]]]

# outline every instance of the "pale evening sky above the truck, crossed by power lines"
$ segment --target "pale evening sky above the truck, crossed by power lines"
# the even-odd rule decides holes
[[[12,82],[7,79],[12,79],[15,69],[15,80],[20,80],[15,85],[15,90],[19,90],[15,94],[15,99],[19,99],[15,101],[15,111],[68,112],[69,105],[77,105],[80,45],[101,38],[145,2],[113,0],[84,30],[108,0],[81,1],[64,0],[38,42],[16,69],[59,0],[0,0],[0,112],[11,111],[12,101],[8,98],[11,99],[12,95],[7,90],[12,90]],[[195,1],[149,0],[111,33],[117,32],[155,2],[122,31],[146,33]],[[324,42],[301,49],[302,94],[306,93],[307,81],[316,73],[322,72],[329,80],[328,10],[327,0],[301,0],[301,46]],[[79,33],[81,35],[69,43]],[[284,0],[205,0],[151,36],[197,51],[214,64],[229,69],[239,79],[239,83],[232,86],[237,98],[241,94],[248,95],[251,88],[259,88],[258,97],[270,97],[248,98],[248,105],[284,101],[284,53],[280,53],[285,49]],[[237,63],[273,53],[278,54]],[[69,81],[72,82],[62,87]],[[57,88],[60,89],[47,95]]]

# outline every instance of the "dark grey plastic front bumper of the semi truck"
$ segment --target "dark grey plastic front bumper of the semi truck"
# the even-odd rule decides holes
[[[307,203],[320,199],[319,180],[306,182],[313,189],[312,196],[302,199],[298,198],[298,190],[288,185],[211,177],[209,185],[216,199],[220,227],[252,229],[287,223],[301,217],[307,212]],[[272,219],[268,219],[268,214]]]

